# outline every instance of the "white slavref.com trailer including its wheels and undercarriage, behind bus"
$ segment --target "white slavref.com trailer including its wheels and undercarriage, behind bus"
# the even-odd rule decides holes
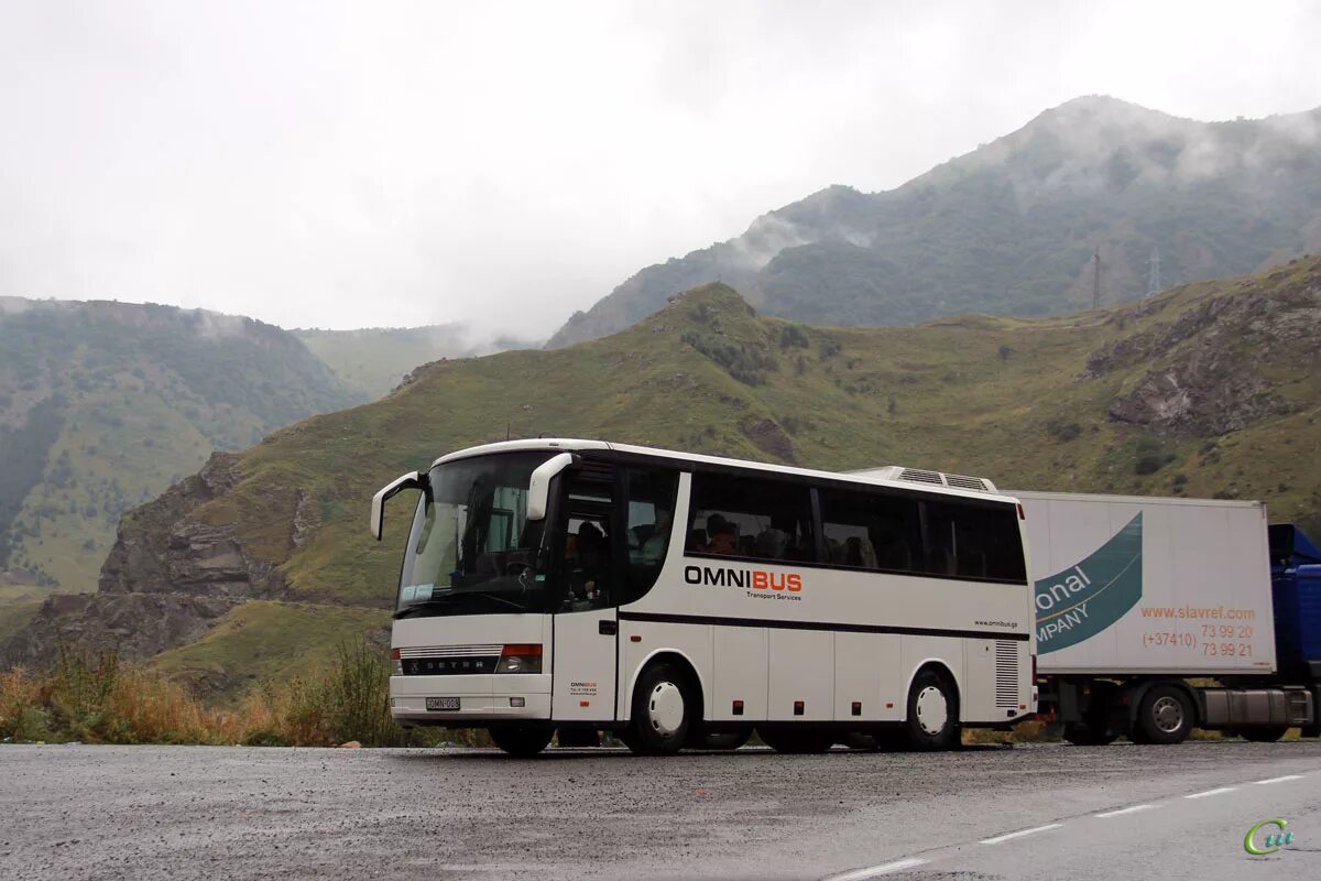
[[[1005,494],[1026,515],[1041,711],[1067,740],[1321,733],[1321,686],[1276,675],[1263,503]]]

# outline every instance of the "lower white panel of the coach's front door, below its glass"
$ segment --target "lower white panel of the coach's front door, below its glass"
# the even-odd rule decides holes
[[[555,616],[551,717],[614,721],[618,613],[610,609]]]

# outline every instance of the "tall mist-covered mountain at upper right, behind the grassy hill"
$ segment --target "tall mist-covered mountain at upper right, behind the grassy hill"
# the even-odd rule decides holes
[[[832,186],[741,236],[647,267],[550,341],[626,328],[679,291],[738,288],[768,314],[909,325],[1045,316],[1321,251],[1321,108],[1229,123],[1079,98],[885,193]]]

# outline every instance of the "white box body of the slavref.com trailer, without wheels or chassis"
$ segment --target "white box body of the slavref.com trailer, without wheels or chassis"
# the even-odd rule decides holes
[[[1266,506],[1012,493],[1042,674],[1275,672]]]

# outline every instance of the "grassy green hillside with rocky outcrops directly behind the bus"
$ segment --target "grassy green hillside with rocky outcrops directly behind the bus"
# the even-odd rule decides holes
[[[1011,487],[1264,498],[1276,519],[1321,526],[1318,318],[1317,259],[1074,317],[904,329],[758,317],[733,289],[708,285],[613,337],[429,365],[383,400],[213,457],[125,514],[99,596],[48,604],[32,627],[46,635],[9,654],[49,647],[61,627],[90,634],[96,616],[155,597],[151,608],[180,616],[176,633],[205,631],[205,646],[178,637],[139,650],[184,645],[157,663],[205,668],[203,682],[232,693],[247,674],[276,670],[280,652],[304,664],[309,646],[378,631],[407,516],[396,509],[387,540],[373,542],[371,494],[441,453],[503,439],[507,425],[827,469],[901,464]],[[308,610],[334,606],[361,617]],[[306,627],[288,623],[299,621]],[[242,635],[254,626],[293,627],[297,646],[254,656]]]

